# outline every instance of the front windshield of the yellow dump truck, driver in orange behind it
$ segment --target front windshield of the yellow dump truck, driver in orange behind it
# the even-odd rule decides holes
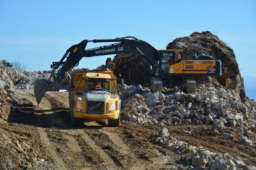
[[[109,79],[86,78],[84,90],[86,91],[95,89],[109,92]]]

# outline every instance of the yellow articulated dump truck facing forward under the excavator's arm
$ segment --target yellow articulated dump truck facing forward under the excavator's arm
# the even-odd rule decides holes
[[[120,126],[120,90],[124,80],[117,80],[108,69],[66,72],[65,76],[70,86],[72,126],[84,125],[84,119],[107,119],[108,126]]]

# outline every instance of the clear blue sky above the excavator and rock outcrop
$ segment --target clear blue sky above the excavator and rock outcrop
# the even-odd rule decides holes
[[[85,39],[134,36],[166,49],[175,38],[211,31],[234,50],[242,76],[256,77],[255,8],[255,0],[0,0],[0,59],[18,60],[28,71],[50,70]],[[78,67],[95,69],[108,57],[84,58]]]

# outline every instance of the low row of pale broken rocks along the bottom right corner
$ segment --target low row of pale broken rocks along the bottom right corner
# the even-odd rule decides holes
[[[233,158],[228,153],[210,152],[204,148],[191,146],[183,141],[178,141],[170,136],[168,129],[164,128],[158,133],[155,133],[155,142],[172,152],[181,155],[181,161],[190,165],[191,169],[203,170],[236,170],[236,169],[256,169],[251,165],[245,165],[242,159]]]

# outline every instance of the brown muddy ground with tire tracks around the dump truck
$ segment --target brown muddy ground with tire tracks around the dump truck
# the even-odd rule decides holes
[[[21,100],[0,119],[0,169],[189,169],[180,155],[154,143],[154,134],[163,127],[122,121],[113,128],[102,121],[74,128],[67,92],[47,92],[40,108],[33,91],[16,90],[16,94]],[[209,125],[167,128],[178,140],[256,166],[256,149],[236,139],[211,136]],[[30,149],[20,151],[19,145]]]

